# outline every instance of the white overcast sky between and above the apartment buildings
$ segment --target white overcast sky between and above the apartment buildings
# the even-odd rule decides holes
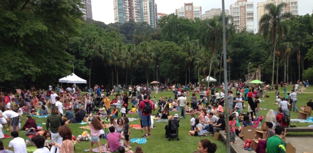
[[[157,12],[171,14],[175,9],[184,6],[184,3],[193,2],[194,6],[202,6],[202,14],[212,8],[222,8],[221,0],[155,0]],[[236,0],[225,0],[225,10],[230,10],[230,6],[235,4]],[[266,2],[266,0],[248,0],[254,2],[254,29],[257,29],[257,4]],[[298,0],[299,15],[312,14],[313,0]],[[114,22],[113,0],[92,0],[93,19],[102,21],[106,24]]]

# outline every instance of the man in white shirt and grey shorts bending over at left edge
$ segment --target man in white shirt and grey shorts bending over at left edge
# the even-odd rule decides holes
[[[7,120],[7,125],[9,125],[10,132],[13,132],[13,126],[15,126],[15,131],[18,132],[19,115],[13,111],[0,111],[0,118],[4,117]]]

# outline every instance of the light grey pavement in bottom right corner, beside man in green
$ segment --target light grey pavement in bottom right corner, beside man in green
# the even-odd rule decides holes
[[[313,150],[311,146],[311,144],[313,144],[312,137],[286,137],[286,141],[289,141],[296,148],[296,152],[308,152]]]

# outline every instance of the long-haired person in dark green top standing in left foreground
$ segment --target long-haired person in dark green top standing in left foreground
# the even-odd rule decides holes
[[[58,107],[53,106],[51,110],[51,114],[48,115],[47,117],[46,127],[47,127],[47,130],[51,131],[51,141],[56,142],[57,144],[62,143],[62,137],[61,137],[61,134],[59,135],[59,131],[58,131],[59,127],[61,126],[61,121],[62,121],[62,117],[61,115],[59,115]],[[71,139],[72,139],[72,134],[71,134]],[[59,153],[60,148],[55,145],[51,147],[51,152],[54,153],[55,149],[56,149],[56,153]]]

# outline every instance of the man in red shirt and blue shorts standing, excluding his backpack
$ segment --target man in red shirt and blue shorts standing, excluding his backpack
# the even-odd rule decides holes
[[[144,103],[142,103],[143,101],[144,101]],[[151,135],[151,133],[150,133],[150,131],[151,131],[151,129],[150,129],[151,113],[146,114],[144,111],[144,108],[145,108],[146,103],[149,103],[151,105],[151,108],[153,107],[153,104],[152,104],[151,100],[148,99],[148,95],[144,95],[143,101],[141,101],[138,108],[141,109],[141,112],[143,113],[142,117],[141,117],[141,124],[144,127],[145,133],[146,133],[143,137],[148,138]]]

